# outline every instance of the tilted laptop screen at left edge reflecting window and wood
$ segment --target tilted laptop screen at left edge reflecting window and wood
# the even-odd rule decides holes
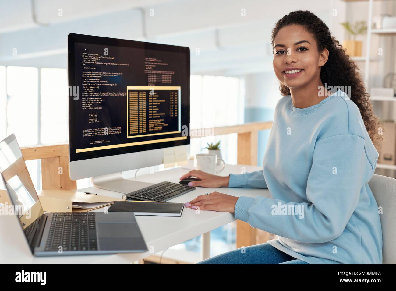
[[[23,229],[44,213],[15,135],[0,141],[0,171],[10,199],[8,213],[17,215]]]

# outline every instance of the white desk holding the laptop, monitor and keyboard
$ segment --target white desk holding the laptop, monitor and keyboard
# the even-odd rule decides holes
[[[244,166],[247,172],[257,171],[261,167]],[[226,165],[221,175],[229,173],[241,173],[241,165]],[[137,180],[159,183],[162,181],[179,182],[179,177],[187,173],[188,169],[177,167],[154,174],[138,176]],[[85,192],[93,192],[100,195],[121,197],[122,194],[94,187],[85,188]],[[171,202],[188,202],[198,195],[206,192],[218,191],[233,196],[256,197],[262,195],[269,197],[268,189],[247,189],[247,188],[201,188],[176,197]],[[103,211],[103,209],[96,209]],[[136,216],[139,228],[147,243],[148,252],[145,253],[122,253],[114,255],[89,255],[89,256],[65,256],[65,257],[34,257],[24,238],[24,234],[14,216],[0,215],[0,263],[131,263],[158,253],[179,243],[185,242],[209,233],[211,230],[228,224],[235,220],[233,214],[217,211],[200,211],[196,213],[194,209],[185,208],[181,217],[154,217]],[[205,256],[208,255],[208,238],[204,236],[203,243]]]

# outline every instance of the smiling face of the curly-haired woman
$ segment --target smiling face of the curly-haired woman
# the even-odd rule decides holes
[[[327,57],[327,49],[319,52],[315,38],[301,25],[283,27],[274,38],[272,65],[278,80],[289,88],[320,82]]]

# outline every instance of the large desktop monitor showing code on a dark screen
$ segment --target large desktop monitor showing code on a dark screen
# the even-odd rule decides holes
[[[120,172],[189,157],[189,48],[69,34],[68,75],[72,180],[128,193]]]

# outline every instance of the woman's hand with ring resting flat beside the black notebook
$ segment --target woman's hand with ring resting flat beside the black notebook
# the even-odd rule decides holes
[[[200,195],[194,200],[185,203],[187,208],[200,210],[213,210],[234,213],[235,204],[239,197],[219,192],[211,192],[209,195]],[[195,208],[194,208],[195,207]]]

